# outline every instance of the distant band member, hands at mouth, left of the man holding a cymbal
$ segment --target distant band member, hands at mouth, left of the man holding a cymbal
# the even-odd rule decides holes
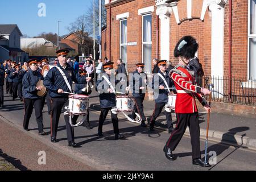
[[[22,78],[24,71],[20,70],[20,65],[16,64],[14,70],[11,71],[9,77],[13,80],[13,101],[19,96],[20,101],[23,102],[22,98]],[[17,93],[18,92],[18,93]]]

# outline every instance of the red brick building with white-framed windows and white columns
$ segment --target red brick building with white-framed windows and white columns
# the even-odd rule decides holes
[[[102,57],[121,57],[129,72],[138,61],[151,72],[154,57],[176,64],[177,41],[192,35],[205,75],[256,78],[255,0],[106,0],[105,7]]]

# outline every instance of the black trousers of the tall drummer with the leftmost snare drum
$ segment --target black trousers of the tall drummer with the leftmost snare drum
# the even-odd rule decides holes
[[[68,98],[51,98],[51,100],[52,100],[51,137],[56,138],[61,110],[64,109],[65,106],[68,106],[69,102],[68,102]],[[66,123],[68,142],[74,142],[75,140],[74,129],[69,124],[69,114],[64,115],[64,119]]]

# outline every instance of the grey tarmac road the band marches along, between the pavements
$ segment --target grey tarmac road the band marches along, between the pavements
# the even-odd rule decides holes
[[[95,97],[94,99],[97,99]],[[23,122],[23,104],[20,101],[12,101],[10,97],[5,97],[5,109],[0,110],[0,115],[5,121],[13,123],[14,126],[22,129]],[[71,148],[67,146],[67,137],[64,125],[63,115],[61,115],[59,123],[59,131],[57,133],[58,143],[49,142],[48,136],[39,136],[37,134],[37,124],[34,113],[31,117],[28,132],[32,137],[36,137],[46,144],[40,150],[46,150],[46,155],[51,156],[48,152],[48,147],[53,147],[61,154],[79,160],[86,166],[99,170],[208,170],[198,166],[193,166],[191,157],[190,138],[184,136],[181,139],[179,146],[174,152],[177,155],[177,160],[170,162],[163,153],[163,146],[170,134],[163,130],[156,130],[154,134],[148,133],[148,128],[142,128],[137,123],[128,122],[125,119],[119,120],[120,132],[125,135],[124,140],[114,140],[113,126],[108,117],[103,127],[104,137],[100,138],[97,135],[98,126],[98,111],[90,112],[90,121],[94,128],[87,130],[85,127],[75,128],[75,140],[81,145],[80,148]],[[44,126],[49,133],[49,115],[47,114],[46,106],[44,107]],[[119,114],[123,118],[122,114]],[[2,138],[2,137],[1,137]],[[31,143],[28,140],[28,143]],[[10,147],[15,141],[10,141]],[[201,154],[204,154],[204,139],[201,139]],[[33,144],[32,144],[33,145]],[[26,144],[16,146],[23,148],[22,153],[30,150]],[[256,170],[256,153],[255,151],[236,148],[224,144],[209,142],[208,151],[217,152],[217,165],[211,170]],[[37,154],[35,154],[37,155]],[[27,156],[35,158],[37,156]],[[19,159],[18,156],[16,156]],[[55,158],[55,156],[53,157]],[[63,159],[65,163],[65,159]],[[26,167],[27,164],[24,164]],[[72,169],[81,169],[81,167],[73,166]]]

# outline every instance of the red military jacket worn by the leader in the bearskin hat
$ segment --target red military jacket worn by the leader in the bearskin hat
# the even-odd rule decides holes
[[[175,113],[195,113],[198,111],[195,97],[203,106],[207,104],[207,101],[201,97],[201,88],[195,85],[193,72],[184,67],[183,65],[177,65],[169,73],[177,90]]]

